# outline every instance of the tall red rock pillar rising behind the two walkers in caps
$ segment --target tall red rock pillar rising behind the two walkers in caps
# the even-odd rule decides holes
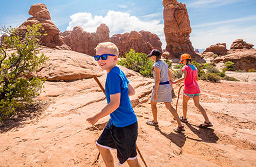
[[[183,53],[187,53],[194,60],[205,62],[195,53],[189,40],[191,28],[186,6],[176,0],[163,0],[163,6],[166,51],[172,55],[171,57],[180,58]]]

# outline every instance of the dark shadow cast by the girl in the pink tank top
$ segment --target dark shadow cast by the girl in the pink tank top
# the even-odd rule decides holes
[[[188,136],[186,136],[186,138],[189,138],[189,139],[192,139],[192,140],[197,140],[197,141],[212,142],[212,143],[215,143],[219,140],[219,137],[214,133],[214,129],[199,128],[199,130],[198,130],[198,129],[193,127],[193,126],[197,127],[196,125],[189,124],[189,123],[186,124],[186,125],[193,133],[198,135],[198,137],[201,138],[202,140],[191,138],[191,137],[188,137]]]

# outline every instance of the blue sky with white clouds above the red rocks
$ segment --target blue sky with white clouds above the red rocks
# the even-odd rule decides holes
[[[225,42],[229,49],[232,41],[242,38],[256,45],[255,0],[178,0],[186,4],[194,48],[205,49],[211,44]],[[163,33],[163,5],[160,0],[104,1],[104,0],[0,0],[0,26],[18,27],[31,15],[33,4],[44,3],[51,20],[61,32],[81,26],[87,32],[96,32],[100,23],[116,33],[146,30],[166,42]],[[255,46],[254,46],[255,48]]]

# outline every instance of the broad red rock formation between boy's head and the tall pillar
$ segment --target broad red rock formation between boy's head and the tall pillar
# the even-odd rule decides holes
[[[115,34],[111,38],[119,49],[119,55],[125,56],[130,49],[135,52],[149,54],[152,49],[161,49],[162,42],[156,34],[147,31],[131,31],[131,33]]]

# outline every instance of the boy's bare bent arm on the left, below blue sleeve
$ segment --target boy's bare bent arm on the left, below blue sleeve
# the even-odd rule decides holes
[[[110,95],[110,103],[108,105],[106,105],[100,112],[87,118],[86,121],[88,121],[90,124],[94,125],[95,123],[97,123],[97,121],[100,118],[114,112],[120,105],[120,97],[121,97],[121,93],[111,94]]]

